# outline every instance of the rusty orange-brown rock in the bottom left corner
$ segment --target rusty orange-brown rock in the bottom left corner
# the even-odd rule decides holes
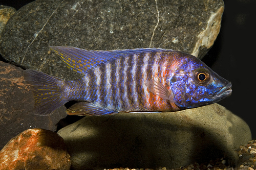
[[[44,129],[28,129],[12,138],[0,151],[1,169],[70,169],[63,139]]]

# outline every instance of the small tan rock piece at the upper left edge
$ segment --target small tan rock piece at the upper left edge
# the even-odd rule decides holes
[[[0,5],[0,38],[7,21],[15,12],[16,10],[12,7]]]

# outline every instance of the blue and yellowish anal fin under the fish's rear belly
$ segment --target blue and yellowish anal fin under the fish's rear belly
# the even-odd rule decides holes
[[[100,107],[94,105],[90,102],[78,102],[72,105],[68,110],[67,114],[69,115],[107,115],[107,114],[116,114],[118,113],[116,110],[111,110],[108,108]]]

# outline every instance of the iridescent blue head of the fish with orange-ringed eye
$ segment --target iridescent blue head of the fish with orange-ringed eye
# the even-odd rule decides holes
[[[231,83],[211,70],[201,60],[179,72],[174,100],[176,105],[183,108],[194,108],[214,104],[229,96],[232,92]],[[180,90],[177,90],[180,88]],[[179,92],[177,92],[179,91]],[[178,94],[178,95],[176,95]]]

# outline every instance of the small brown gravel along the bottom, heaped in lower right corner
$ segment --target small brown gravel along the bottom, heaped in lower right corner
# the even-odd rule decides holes
[[[256,140],[251,140],[245,145],[240,145],[239,149],[237,150],[239,160],[236,163],[236,166],[228,165],[227,160],[225,158],[217,159],[217,160],[210,160],[207,164],[199,164],[193,163],[188,166],[181,166],[180,168],[175,169],[166,169],[166,167],[159,167],[156,169],[150,168],[114,168],[114,169],[103,169],[103,170],[200,170],[200,169],[207,169],[207,170],[234,170],[234,169],[244,169],[244,170],[253,170],[256,169]]]

